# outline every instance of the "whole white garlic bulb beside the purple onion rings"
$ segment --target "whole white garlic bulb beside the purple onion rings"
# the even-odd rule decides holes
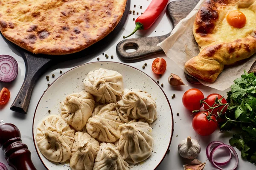
[[[201,147],[196,139],[188,136],[178,145],[180,156],[187,159],[195,159],[201,151]]]

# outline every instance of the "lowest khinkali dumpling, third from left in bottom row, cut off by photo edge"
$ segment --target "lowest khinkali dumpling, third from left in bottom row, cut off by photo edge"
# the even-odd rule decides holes
[[[122,159],[116,146],[101,143],[93,170],[129,170],[129,164]]]

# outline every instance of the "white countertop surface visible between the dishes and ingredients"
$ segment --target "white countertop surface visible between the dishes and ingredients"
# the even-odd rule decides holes
[[[172,1],[172,0],[170,0]],[[131,10],[138,11],[139,13],[143,12],[145,8],[148,6],[148,4],[151,2],[151,0],[131,0]],[[184,2],[185,3],[185,2]],[[136,8],[134,8],[134,5],[136,5]],[[140,6],[143,6],[142,9],[140,9]],[[21,132],[21,138],[25,144],[28,145],[29,150],[32,153],[32,161],[35,164],[35,167],[38,170],[45,170],[45,167],[41,163],[40,159],[38,158],[38,155],[35,151],[35,147],[32,140],[32,120],[33,115],[35,112],[36,105],[43,94],[44,90],[47,88],[47,84],[53,82],[56,77],[60,75],[59,71],[66,72],[70,68],[73,68],[77,65],[81,65],[87,62],[95,62],[97,61],[97,58],[100,58],[100,61],[115,61],[115,62],[122,62],[116,55],[116,44],[123,40],[123,35],[130,34],[134,29],[134,21],[133,18],[136,18],[137,15],[129,14],[128,19],[125,23],[125,26],[122,28],[122,31],[118,35],[116,35],[116,38],[105,48],[98,51],[98,53],[93,54],[89,57],[80,58],[71,60],[68,62],[60,62],[59,64],[53,66],[52,68],[49,68],[49,70],[42,75],[42,77],[38,80],[38,82],[35,85],[34,91],[32,93],[32,98],[29,105],[29,111],[27,114],[22,113],[15,113],[11,111],[9,108],[12,105],[12,102],[14,101],[18,91],[20,90],[20,87],[23,83],[24,77],[25,77],[25,65],[22,57],[20,54],[11,46],[9,46],[2,37],[0,37],[0,54],[7,54],[14,57],[19,66],[19,73],[17,76],[17,79],[14,82],[11,83],[3,83],[0,82],[0,89],[3,87],[9,88],[11,91],[11,99],[9,102],[4,105],[0,106],[0,119],[3,119],[6,123],[12,123],[16,125]],[[167,34],[172,30],[171,21],[166,16],[166,13],[163,12],[161,16],[157,19],[156,23],[152,26],[151,29],[148,29],[146,31],[138,31],[136,34],[131,36],[131,38],[134,37],[151,37],[151,36],[160,36],[163,34]],[[105,58],[105,56],[102,56],[102,53],[108,54],[109,56],[113,55],[113,59],[110,57],[108,59]],[[154,75],[154,73],[151,71],[151,64],[154,60],[154,58],[157,57],[163,57],[166,59],[167,62],[167,69],[166,72],[163,74],[161,78]],[[148,66],[145,67],[145,69],[142,68],[144,63],[147,63]],[[163,90],[166,93],[166,95],[169,98],[170,104],[172,106],[173,111],[173,117],[174,117],[174,133],[172,138],[172,143],[170,146],[170,153],[166,155],[163,162],[160,164],[160,166],[157,168],[157,170],[182,170],[182,165],[185,163],[184,160],[179,156],[179,153],[177,151],[177,145],[178,143],[186,138],[187,136],[192,136],[192,138],[198,139],[200,145],[201,145],[201,153],[198,156],[198,159],[201,161],[206,161],[207,156],[205,153],[205,149],[207,144],[209,142],[212,142],[214,140],[219,140],[224,142],[225,144],[229,144],[228,140],[232,136],[232,132],[220,132],[219,130],[216,130],[215,133],[213,133],[210,136],[199,136],[192,128],[192,116],[190,116],[190,112],[187,111],[182,104],[182,96],[183,93],[188,90],[189,88],[199,88],[205,96],[208,96],[212,93],[218,93],[221,95],[226,95],[226,91],[217,91],[212,88],[204,87],[203,85],[192,85],[186,82],[186,79],[184,77],[184,73],[182,69],[180,69],[177,65],[175,65],[174,62],[172,62],[171,59],[167,58],[165,54],[157,54],[149,58],[145,58],[144,61],[140,62],[134,62],[134,63],[128,63],[128,65],[131,65],[135,68],[138,68],[142,71],[144,71],[146,74],[151,76],[155,80],[159,80],[160,83],[163,83]],[[189,86],[183,86],[180,88],[172,88],[167,82],[167,79],[171,73],[179,75],[185,82],[185,84],[189,84]],[[55,74],[55,78],[52,78],[50,76],[50,81],[47,82],[45,77],[46,75],[52,75]],[[176,94],[176,97],[172,99],[172,95]],[[176,113],[180,113],[179,116],[176,115]],[[169,132],[171,133],[171,132]],[[236,148],[235,148],[236,149]],[[239,155],[239,167],[237,169],[239,170],[253,170],[256,169],[255,165],[250,164],[247,161],[244,161],[241,159],[240,155],[241,152],[237,150],[237,153]],[[234,160],[234,159],[233,159]],[[3,156],[3,151],[0,150],[0,162],[3,162],[6,164],[9,170],[13,170],[12,167],[9,167],[6,160]],[[230,163],[232,164],[233,161]],[[214,168],[209,161],[207,161],[205,170],[213,170]]]

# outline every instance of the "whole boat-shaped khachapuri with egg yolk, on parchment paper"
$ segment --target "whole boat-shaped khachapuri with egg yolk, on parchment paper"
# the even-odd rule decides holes
[[[256,0],[206,0],[193,29],[200,53],[186,62],[192,76],[214,82],[225,65],[256,52]]]

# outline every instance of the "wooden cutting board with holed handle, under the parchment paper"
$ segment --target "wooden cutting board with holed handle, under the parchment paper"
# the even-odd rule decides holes
[[[172,1],[168,4],[166,8],[166,13],[170,20],[172,21],[173,28],[185,18],[199,0],[178,0]],[[157,46],[158,43],[165,40],[169,37],[171,32],[166,35],[157,36],[157,37],[141,37],[141,38],[132,38],[119,42],[116,45],[116,53],[125,62],[132,62],[134,60],[143,59],[145,57],[151,56],[153,54],[163,53],[162,48]],[[131,53],[126,52],[125,50],[133,46],[137,50]],[[256,62],[252,65],[249,72],[256,73]],[[194,84],[201,84],[197,79],[189,76],[185,73],[186,79]]]

